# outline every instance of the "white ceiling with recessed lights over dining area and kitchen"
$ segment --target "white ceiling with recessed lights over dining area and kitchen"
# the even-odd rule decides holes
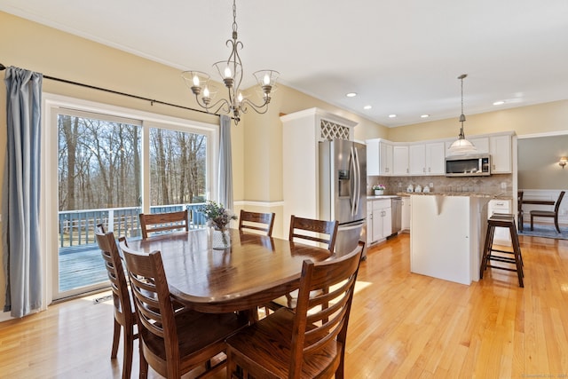
[[[229,54],[232,7],[0,0],[4,12],[212,76]],[[240,0],[237,23],[244,80],[272,68],[280,83],[389,127],[457,119],[461,74],[466,115],[568,99],[566,0]]]

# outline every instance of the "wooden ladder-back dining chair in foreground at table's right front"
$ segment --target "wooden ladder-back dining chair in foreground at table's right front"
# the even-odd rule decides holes
[[[304,260],[296,310],[280,308],[227,339],[227,377],[238,370],[243,378],[343,378],[364,246],[361,241],[351,253],[323,262]]]

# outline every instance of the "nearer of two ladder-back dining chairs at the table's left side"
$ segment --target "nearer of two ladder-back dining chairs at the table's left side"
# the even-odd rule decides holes
[[[130,292],[138,314],[140,377],[148,365],[169,379],[194,368],[212,375],[225,367],[225,340],[248,324],[235,312],[207,314],[187,308],[174,311],[162,253],[130,249],[119,240],[130,279]],[[176,252],[170,252],[175,254]]]

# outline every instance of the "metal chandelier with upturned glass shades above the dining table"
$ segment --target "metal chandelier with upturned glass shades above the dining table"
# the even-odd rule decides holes
[[[235,0],[233,0],[233,37],[228,39],[225,44],[231,47],[229,58],[217,62],[213,66],[217,68],[218,75],[227,89],[226,99],[219,99],[213,103],[217,89],[213,84],[209,83],[209,75],[194,70],[184,71],[181,75],[185,80],[185,84],[195,95],[197,104],[200,107],[205,108],[208,113],[217,114],[218,112],[225,112],[233,114],[236,125],[241,121],[241,114],[247,113],[248,107],[251,107],[258,114],[266,113],[271,100],[271,92],[275,90],[276,79],[278,79],[280,73],[274,70],[261,70],[253,73],[258,83],[258,90],[261,93],[262,104],[255,104],[242,96],[242,63],[239,50],[242,49],[243,44],[237,37],[237,7]]]

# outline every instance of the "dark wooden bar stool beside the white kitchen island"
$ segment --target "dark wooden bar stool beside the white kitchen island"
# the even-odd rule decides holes
[[[505,227],[509,229],[511,235],[511,243],[513,251],[493,249],[493,236],[496,227]],[[493,252],[500,252],[510,254],[513,257],[503,257],[501,255],[493,255]],[[491,260],[501,263],[515,265],[515,268],[503,267],[499,265],[491,265]],[[487,267],[496,268],[499,270],[507,270],[517,272],[518,286],[524,288],[523,277],[523,257],[521,255],[521,248],[518,243],[517,227],[515,225],[515,216],[509,213],[493,213],[489,220],[487,220],[487,234],[485,235],[485,247],[483,249],[483,258],[481,259],[481,268],[479,270],[479,278],[483,279],[483,272]]]

